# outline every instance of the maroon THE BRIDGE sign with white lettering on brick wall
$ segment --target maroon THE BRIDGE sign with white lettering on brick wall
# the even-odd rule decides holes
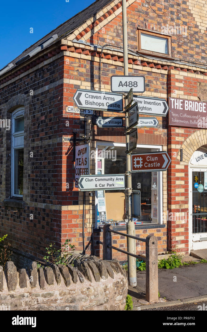
[[[169,124],[207,128],[207,102],[169,98]]]

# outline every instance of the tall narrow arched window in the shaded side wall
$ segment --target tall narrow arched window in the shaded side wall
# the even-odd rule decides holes
[[[11,196],[23,197],[24,109],[12,113]]]

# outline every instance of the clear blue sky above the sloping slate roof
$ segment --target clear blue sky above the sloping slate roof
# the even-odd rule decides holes
[[[1,0],[0,69],[94,1]]]

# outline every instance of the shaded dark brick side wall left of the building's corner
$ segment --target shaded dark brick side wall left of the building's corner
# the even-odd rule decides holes
[[[58,142],[62,141],[59,123],[63,85],[59,80],[63,78],[63,58],[47,62],[0,88],[1,119],[11,118],[13,109],[25,106],[25,208],[3,204],[11,196],[11,131],[0,131],[1,143],[6,142],[0,147],[0,235],[8,234],[12,247],[38,257],[42,257],[50,242],[59,245],[61,240],[61,209],[56,207],[62,199],[62,143]],[[7,214],[7,210],[17,209],[18,212]]]

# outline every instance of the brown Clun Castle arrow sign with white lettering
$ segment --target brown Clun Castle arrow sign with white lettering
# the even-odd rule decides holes
[[[132,172],[166,171],[171,159],[166,151],[133,153]]]

